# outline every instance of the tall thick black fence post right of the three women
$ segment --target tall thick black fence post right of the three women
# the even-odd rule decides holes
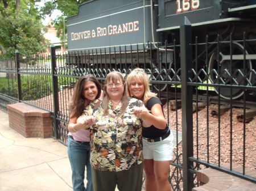
[[[181,109],[182,109],[182,149],[183,149],[183,190],[193,188],[193,174],[189,172],[193,163],[189,157],[193,156],[193,112],[192,86],[188,85],[188,78],[192,68],[192,29],[189,20],[184,17],[184,24],[180,26],[180,58],[181,58]]]

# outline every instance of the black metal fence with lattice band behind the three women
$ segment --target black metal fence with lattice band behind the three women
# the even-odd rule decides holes
[[[120,47],[67,54],[22,56],[0,60],[0,107],[22,101],[52,113],[54,137],[67,142],[68,103],[77,78],[94,74],[101,82],[113,70],[125,77],[135,67],[145,69],[150,87],[164,104],[175,134],[170,166],[173,190],[198,186],[195,172],[211,167],[256,183],[255,54],[246,51],[256,39],[208,41],[191,39],[191,26],[181,26],[180,44],[121,51]],[[202,42],[202,40],[201,40]],[[237,117],[240,114],[240,118]],[[241,118],[242,116],[242,118]],[[240,121],[238,121],[240,119]],[[182,133],[182,135],[181,135]],[[182,137],[182,141],[181,141]],[[224,168],[228,163],[229,168]],[[233,170],[242,167],[241,172]]]

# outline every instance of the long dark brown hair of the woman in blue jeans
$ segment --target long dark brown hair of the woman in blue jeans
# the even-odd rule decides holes
[[[99,98],[101,95],[101,84],[97,80],[97,78],[95,78],[92,74],[88,74],[83,77],[80,77],[76,82],[71,103],[69,104],[69,111],[70,111],[71,118],[79,117],[82,114],[82,111],[84,111],[84,108],[86,107],[85,101],[87,99],[84,97],[84,85],[86,82],[89,82],[89,81],[96,84],[96,87],[98,90],[96,99]]]

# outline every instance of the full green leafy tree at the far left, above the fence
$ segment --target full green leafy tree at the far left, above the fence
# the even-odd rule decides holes
[[[4,57],[13,57],[15,50],[30,55],[46,52],[48,41],[34,0],[2,0],[0,2],[0,47]],[[2,51],[5,52],[5,51]]]

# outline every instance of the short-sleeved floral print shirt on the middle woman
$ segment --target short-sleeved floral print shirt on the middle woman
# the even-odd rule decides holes
[[[133,114],[133,108],[142,107],[143,102],[132,97],[128,99],[123,117],[118,117],[121,104],[114,109],[111,101],[107,116],[103,116],[100,100],[92,101],[84,110],[86,115],[96,118],[96,124],[90,127],[90,163],[94,169],[118,172],[143,162],[142,121]]]

